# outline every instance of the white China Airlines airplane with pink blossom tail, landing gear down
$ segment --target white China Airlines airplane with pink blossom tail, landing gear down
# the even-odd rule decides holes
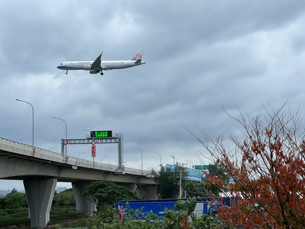
[[[145,64],[142,61],[142,53],[144,49],[140,49],[130,60],[104,60],[101,61],[103,52],[95,59],[95,61],[66,61],[57,66],[58,69],[66,70],[88,70],[90,74],[101,73],[103,70],[109,71],[113,69],[123,69]]]

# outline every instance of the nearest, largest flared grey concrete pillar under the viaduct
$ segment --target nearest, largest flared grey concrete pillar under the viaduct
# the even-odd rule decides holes
[[[56,183],[56,179],[23,180],[29,204],[31,227],[45,227],[50,221]]]

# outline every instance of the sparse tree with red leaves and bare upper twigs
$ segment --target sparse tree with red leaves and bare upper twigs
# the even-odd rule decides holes
[[[245,228],[305,228],[305,139],[302,117],[278,110],[250,118],[234,118],[242,136],[225,132],[216,140],[204,131],[203,140],[210,159],[220,164],[233,184],[228,187],[217,176],[206,176],[209,185],[217,184],[231,208],[218,208],[224,224]],[[226,112],[226,114],[228,114]],[[232,144],[225,145],[230,139]],[[232,147],[233,146],[233,147]],[[227,189],[228,188],[228,189]],[[221,198],[218,199],[219,202]]]

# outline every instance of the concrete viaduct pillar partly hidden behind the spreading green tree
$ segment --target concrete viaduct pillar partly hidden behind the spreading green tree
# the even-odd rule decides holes
[[[91,181],[81,180],[77,183],[72,183],[76,210],[85,213],[87,216],[93,215],[93,211],[96,211],[96,204],[92,202],[92,197],[85,197],[82,195],[82,193],[86,190],[86,186],[91,183]]]

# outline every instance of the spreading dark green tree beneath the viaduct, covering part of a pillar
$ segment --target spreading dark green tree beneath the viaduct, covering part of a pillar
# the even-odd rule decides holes
[[[95,181],[87,185],[87,190],[83,196],[91,196],[96,203],[96,209],[101,212],[105,209],[105,204],[113,205],[119,200],[141,200],[135,193],[129,191],[127,187],[111,182]],[[110,208],[111,208],[110,207]]]

